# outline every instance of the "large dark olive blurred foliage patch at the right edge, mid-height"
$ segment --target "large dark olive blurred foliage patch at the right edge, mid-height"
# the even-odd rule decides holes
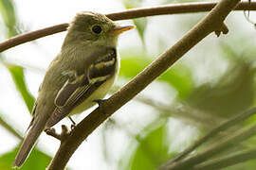
[[[251,60],[237,55],[227,44],[221,44],[229,68],[216,83],[196,87],[186,102],[211,115],[229,117],[252,106],[254,101],[255,69]]]

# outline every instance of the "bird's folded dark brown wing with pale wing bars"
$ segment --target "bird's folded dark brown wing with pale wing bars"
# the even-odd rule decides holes
[[[82,75],[77,75],[76,71],[64,73],[70,78],[64,83],[55,98],[56,109],[48,119],[46,127],[57,124],[113,76],[116,62],[117,53],[112,51],[96,60]]]

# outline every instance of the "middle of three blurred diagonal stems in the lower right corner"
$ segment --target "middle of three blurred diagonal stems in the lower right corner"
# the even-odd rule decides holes
[[[161,167],[161,170],[185,170],[191,169],[192,166],[199,164],[203,161],[207,161],[213,156],[220,154],[221,152],[226,151],[230,147],[239,144],[256,133],[256,125],[247,127],[246,129],[240,130],[239,132],[231,135],[228,139],[225,139],[217,144],[212,145],[210,148],[205,151],[198,153],[192,156],[189,159],[183,161],[177,161],[173,164],[167,165],[165,167]],[[207,168],[206,168],[207,169]]]

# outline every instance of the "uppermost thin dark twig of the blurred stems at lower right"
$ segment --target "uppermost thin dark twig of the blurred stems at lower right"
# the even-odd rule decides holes
[[[192,144],[191,147],[184,150],[181,154],[179,154],[173,160],[169,161],[167,164],[172,164],[172,163],[174,163],[174,161],[182,160],[187,155],[192,153],[192,151],[195,150],[195,148],[197,148],[201,144],[208,142],[212,137],[216,136],[221,131],[224,131],[224,130],[228,129],[229,127],[239,124],[240,122],[246,120],[248,117],[254,115],[255,113],[256,113],[256,107],[252,108],[250,110],[243,111],[240,114],[230,118],[228,121],[224,122],[220,126],[213,128],[206,136],[204,136],[203,138],[196,141],[194,144]]]

